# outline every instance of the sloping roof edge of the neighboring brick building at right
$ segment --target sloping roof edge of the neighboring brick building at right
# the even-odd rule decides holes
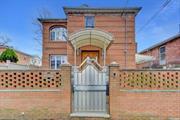
[[[174,36],[172,36],[172,37],[170,37],[170,38],[168,38],[168,39],[166,39],[166,40],[163,40],[162,42],[157,43],[157,44],[155,44],[155,45],[153,45],[153,46],[151,46],[151,47],[149,47],[149,48],[146,48],[146,49],[140,51],[139,53],[142,54],[142,53],[147,52],[147,51],[149,51],[149,50],[152,50],[152,49],[154,49],[154,48],[156,48],[156,47],[162,46],[162,45],[164,45],[164,44],[166,44],[166,43],[168,43],[168,42],[171,42],[171,41],[173,41],[173,40],[175,40],[175,39],[177,39],[177,38],[180,38],[180,33],[178,33],[177,35],[174,35]]]

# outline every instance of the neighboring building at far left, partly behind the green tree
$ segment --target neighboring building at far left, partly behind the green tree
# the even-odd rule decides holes
[[[5,51],[8,48],[8,46],[0,46],[0,54]],[[41,66],[41,58],[38,56],[33,56],[24,52],[21,52],[19,50],[14,49],[18,56],[18,62],[19,65],[34,65],[34,66]]]

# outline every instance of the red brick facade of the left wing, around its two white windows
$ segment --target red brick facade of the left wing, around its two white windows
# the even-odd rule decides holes
[[[67,54],[67,42],[64,41],[51,41],[50,30],[54,26],[67,26],[66,20],[59,20],[53,22],[43,22],[43,54],[42,54],[42,66],[43,68],[50,68],[50,55],[51,54]]]

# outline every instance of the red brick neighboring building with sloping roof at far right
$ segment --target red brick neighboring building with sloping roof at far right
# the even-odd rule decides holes
[[[155,44],[139,54],[153,56],[155,60],[137,64],[138,68],[180,68],[180,34]]]

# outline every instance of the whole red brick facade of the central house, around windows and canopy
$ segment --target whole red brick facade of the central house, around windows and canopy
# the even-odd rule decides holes
[[[123,13],[124,12],[124,13]],[[90,14],[90,13],[89,13]],[[91,13],[93,14],[93,13]],[[86,13],[67,13],[67,20],[41,20],[43,24],[43,68],[50,68],[49,56],[51,54],[66,54],[68,62],[74,65],[74,48],[70,41],[50,41],[50,29],[53,26],[64,26],[68,35],[85,29]],[[106,50],[106,64],[116,61],[122,68],[134,69],[136,42],[135,42],[135,13],[122,11],[121,13],[95,13],[94,29],[112,34],[113,41]],[[125,17],[126,16],[126,17]],[[80,48],[83,49],[83,48]],[[82,62],[77,56],[78,65]],[[101,59],[101,58],[100,58]],[[102,62],[102,59],[100,60]]]

